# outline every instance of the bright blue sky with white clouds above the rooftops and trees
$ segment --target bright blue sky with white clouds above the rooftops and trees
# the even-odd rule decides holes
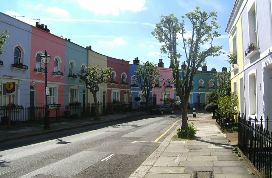
[[[235,1],[145,1],[145,0],[72,0],[72,1],[0,1],[0,11],[35,26],[36,21],[47,25],[50,33],[70,38],[79,46],[92,46],[100,54],[130,61],[139,57],[140,63],[158,63],[170,66],[170,59],[161,54],[161,43],[151,35],[161,15],[173,13],[179,22],[182,15],[195,10],[196,6],[206,12],[217,12],[221,36],[214,40],[215,46],[224,46],[229,54],[229,39],[225,32]],[[192,31],[186,20],[186,30]],[[4,29],[1,29],[3,31]],[[190,34],[190,33],[188,33]],[[182,38],[178,39],[177,52],[184,54]],[[203,46],[202,49],[207,47]],[[48,51],[49,52],[49,51]],[[207,57],[208,70],[229,68],[227,56]],[[185,61],[185,56],[180,58]],[[199,69],[201,70],[201,69]]]

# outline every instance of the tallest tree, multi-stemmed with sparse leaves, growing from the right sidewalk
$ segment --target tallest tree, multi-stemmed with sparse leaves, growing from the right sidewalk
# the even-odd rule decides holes
[[[193,89],[193,78],[199,67],[209,56],[219,56],[224,54],[221,50],[223,46],[213,46],[213,40],[220,36],[215,29],[220,28],[215,22],[217,14],[215,12],[207,13],[196,7],[195,12],[186,13],[182,19],[188,18],[192,25],[192,35],[185,37],[185,20],[179,23],[174,14],[169,16],[161,16],[160,23],[156,24],[155,31],[151,32],[156,36],[160,43],[163,43],[160,50],[167,54],[170,58],[170,65],[175,83],[175,92],[182,101],[182,129],[187,129],[188,101],[191,90]],[[210,24],[208,22],[210,21]],[[185,54],[185,62],[182,65],[182,73],[180,71],[179,58],[182,56],[177,52],[178,34],[181,34]],[[210,42],[208,49],[204,48],[204,44]]]

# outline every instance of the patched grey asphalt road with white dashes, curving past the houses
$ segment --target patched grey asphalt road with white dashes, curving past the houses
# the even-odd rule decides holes
[[[178,120],[175,114],[139,116],[4,142],[1,177],[128,177]]]

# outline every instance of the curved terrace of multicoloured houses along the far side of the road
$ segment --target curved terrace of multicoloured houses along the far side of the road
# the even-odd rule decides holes
[[[9,104],[6,87],[10,82],[15,83],[11,98],[14,104],[23,107],[45,105],[45,69],[41,58],[45,50],[51,56],[47,74],[49,105],[92,103],[92,94],[79,82],[76,74],[81,69],[96,65],[101,68],[112,67],[111,82],[100,85],[98,102],[136,102],[140,105],[145,102],[134,76],[140,63],[138,57],[134,58],[133,64],[129,64],[129,61],[97,53],[91,46],[82,47],[70,39],[53,35],[46,25],[37,22],[31,26],[1,13],[1,33],[4,30],[9,31],[9,37],[8,44],[3,47],[5,53],[1,54],[1,106]],[[164,67],[162,59],[158,60],[158,66],[162,76],[157,79],[158,83],[150,94],[153,104],[162,104],[163,98],[179,103],[171,80],[171,68]],[[215,69],[207,71],[204,65],[194,78],[196,86],[190,97],[191,107],[203,107],[207,103],[207,95],[215,90],[210,78],[215,72]],[[164,82],[166,87],[162,85]],[[135,100],[138,96],[140,101]]]

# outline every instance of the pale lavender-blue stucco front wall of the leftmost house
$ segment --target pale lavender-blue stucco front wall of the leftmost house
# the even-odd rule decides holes
[[[5,53],[1,54],[1,91],[7,82],[15,82],[15,104],[29,107],[30,105],[30,41],[31,26],[4,13],[1,13],[1,34],[8,30],[8,44],[3,45]],[[23,65],[28,66],[28,70],[18,70],[11,65],[14,63],[14,48],[18,46],[22,52]],[[1,104],[7,105],[6,97],[1,97]]]

